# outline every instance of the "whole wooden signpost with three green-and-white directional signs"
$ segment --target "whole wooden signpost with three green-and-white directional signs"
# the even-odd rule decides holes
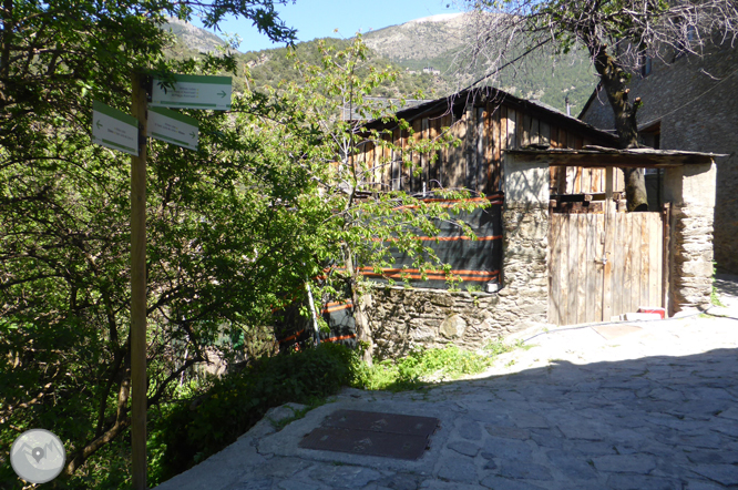
[[[131,154],[131,446],[133,490],[146,489],[146,136],[197,150],[197,120],[167,106],[230,109],[230,76],[174,75],[168,91],[132,76],[131,115],[93,102],[92,141]]]

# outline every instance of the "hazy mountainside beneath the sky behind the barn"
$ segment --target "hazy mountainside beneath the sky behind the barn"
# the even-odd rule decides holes
[[[463,13],[431,16],[366,33],[363,40],[372,50],[368,65],[379,68],[389,64],[400,71],[394,83],[378,88],[375,95],[412,98],[422,91],[422,98],[435,99],[465,88],[471,81],[490,73],[492,68],[484,63],[476,64],[472,70],[464,69],[464,55],[471,35],[467,20]],[[164,29],[168,29],[178,39],[171,52],[173,57],[215,51],[226,45],[217,35],[177,19],[171,19]],[[324,41],[336,49],[350,42],[332,38]],[[317,40],[298,43],[296,48],[304,60],[315,63],[320,61]],[[291,62],[286,59],[285,48],[234,53],[250,72],[250,89],[276,86],[281,80],[299,80]],[[502,70],[485,83],[523,99],[540,100],[562,111],[565,111],[567,98],[573,113],[577,113],[596,82],[586,53],[573,51],[561,55],[542,53],[529,57],[514,68]],[[245,85],[243,78],[234,80],[235,90],[244,90]]]

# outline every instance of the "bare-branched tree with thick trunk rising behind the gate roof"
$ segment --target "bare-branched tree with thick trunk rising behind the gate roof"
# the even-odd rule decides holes
[[[486,53],[493,64],[501,65],[513,52],[584,47],[613,109],[622,147],[638,146],[636,116],[644,101],[631,101],[627,85],[645,59],[669,62],[675,52],[699,54],[707,43],[734,43],[738,37],[734,0],[472,0],[467,4],[479,32],[474,54]],[[625,176],[628,211],[647,210],[643,170],[626,169]]]

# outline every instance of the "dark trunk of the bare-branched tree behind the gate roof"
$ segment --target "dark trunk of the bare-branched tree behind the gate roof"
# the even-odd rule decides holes
[[[640,100],[635,104],[628,100],[628,74],[625,73],[615,59],[607,54],[607,47],[598,42],[588,42],[590,53],[594,58],[594,67],[599,73],[602,86],[607,94],[607,101],[615,115],[615,130],[621,141],[621,147],[638,147],[638,121],[636,112]],[[646,180],[643,169],[623,169],[625,174],[625,198],[628,211],[648,211],[648,196],[646,194]]]

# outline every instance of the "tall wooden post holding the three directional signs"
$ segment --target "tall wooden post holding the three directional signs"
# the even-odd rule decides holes
[[[146,91],[132,76],[139,156],[131,157],[131,440],[133,490],[146,489]]]

